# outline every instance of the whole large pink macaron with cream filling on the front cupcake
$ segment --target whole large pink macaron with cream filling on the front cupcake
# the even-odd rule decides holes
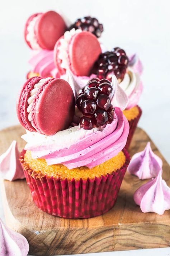
[[[75,113],[75,97],[60,78],[29,78],[16,103],[21,125],[29,131],[53,135],[69,127]]]

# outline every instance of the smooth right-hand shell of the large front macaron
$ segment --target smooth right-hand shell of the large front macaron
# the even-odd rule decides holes
[[[39,133],[53,135],[69,127],[74,112],[75,97],[69,83],[56,78],[38,90],[31,118]]]

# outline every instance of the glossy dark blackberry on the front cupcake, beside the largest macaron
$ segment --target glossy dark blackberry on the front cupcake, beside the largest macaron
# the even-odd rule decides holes
[[[82,129],[90,130],[113,121],[114,108],[109,97],[112,90],[109,80],[99,78],[92,78],[79,90],[76,104],[83,114],[80,119]]]

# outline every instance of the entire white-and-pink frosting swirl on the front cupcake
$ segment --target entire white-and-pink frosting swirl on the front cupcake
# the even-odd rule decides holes
[[[116,156],[126,145],[128,133],[128,121],[115,107],[113,122],[100,129],[75,126],[53,136],[28,132],[22,138],[28,142],[25,149],[32,152],[32,157],[45,158],[48,165],[62,163],[69,169],[91,169]]]

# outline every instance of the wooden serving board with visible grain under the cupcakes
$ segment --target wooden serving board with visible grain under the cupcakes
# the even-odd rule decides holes
[[[21,126],[0,131],[0,154],[13,139],[19,149],[24,147]],[[140,128],[134,134],[131,156],[142,151],[151,141]],[[162,158],[163,178],[170,186],[170,166],[151,142],[153,151]],[[106,214],[91,219],[69,220],[48,215],[39,210],[32,200],[25,180],[1,181],[6,224],[23,234],[33,255],[62,255],[92,253],[139,248],[170,246],[170,211],[160,216],[144,214],[133,201],[134,191],[141,181],[128,172],[123,180],[115,206]]]

